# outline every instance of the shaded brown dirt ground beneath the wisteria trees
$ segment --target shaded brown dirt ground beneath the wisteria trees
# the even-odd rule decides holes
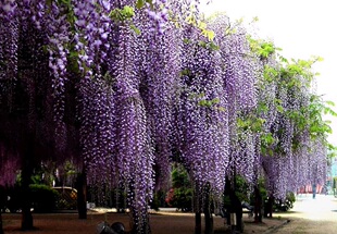
[[[279,225],[284,220],[266,219],[264,223],[255,224],[247,214],[244,217],[244,233],[264,233]],[[89,212],[87,220],[78,220],[76,213],[34,214],[35,231],[20,231],[21,214],[3,214],[5,234],[95,234],[97,225],[102,221],[122,222],[129,230],[128,214]],[[195,217],[191,213],[157,212],[150,215],[152,234],[194,234]],[[224,219],[214,217],[215,233],[229,233]]]

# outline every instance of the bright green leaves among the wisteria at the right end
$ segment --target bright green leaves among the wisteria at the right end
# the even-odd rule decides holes
[[[271,49],[270,44],[259,44],[259,41],[251,40],[251,47],[260,57],[267,56],[269,52],[274,53],[275,50]],[[309,131],[311,138],[321,137],[323,139],[327,138],[327,134],[332,133],[330,122],[324,120],[324,115],[336,116],[336,112],[330,108],[334,107],[332,101],[323,101],[321,96],[308,93],[312,86],[314,77],[317,75],[312,72],[312,65],[322,61],[320,57],[313,57],[310,60],[291,60],[288,61],[283,57],[279,57],[279,69],[265,66],[263,71],[262,84],[260,84],[262,90],[263,85],[267,85],[271,82],[276,82],[278,89],[287,91],[287,96],[296,99],[298,97],[309,97],[309,104],[302,103],[300,109],[285,109],[279,97],[274,99],[274,104],[276,107],[277,113],[284,118],[291,121],[295,127],[295,134],[292,136],[292,148],[297,149],[301,147],[298,137],[303,132]],[[258,113],[267,113],[267,107],[264,104],[263,100],[258,106]],[[274,134],[283,134],[283,130],[278,130]],[[276,149],[274,151],[283,152],[282,146],[275,143],[271,135],[262,136],[262,153],[270,153],[269,146],[271,144],[276,144]],[[328,143],[326,143],[328,144]]]

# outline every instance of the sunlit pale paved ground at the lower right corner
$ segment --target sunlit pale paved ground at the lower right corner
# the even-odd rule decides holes
[[[290,222],[275,234],[337,234],[337,198],[330,195],[299,195],[291,211],[279,215]]]

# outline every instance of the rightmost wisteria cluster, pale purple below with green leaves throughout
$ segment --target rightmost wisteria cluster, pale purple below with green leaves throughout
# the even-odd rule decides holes
[[[282,66],[274,89],[276,98],[270,104],[275,107],[276,118],[269,125],[273,140],[262,165],[270,193],[282,199],[289,190],[324,183],[321,176],[325,176],[326,170],[326,136],[322,116],[314,114],[322,112],[322,103],[311,89],[312,63],[300,60]]]

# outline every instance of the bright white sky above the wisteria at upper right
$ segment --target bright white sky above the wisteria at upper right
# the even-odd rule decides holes
[[[205,1],[205,0],[204,0]],[[337,13],[336,0],[212,0],[201,11],[224,11],[232,21],[253,17],[258,34],[272,39],[287,59],[324,59],[315,65],[317,93],[337,106]],[[337,110],[337,107],[334,108]],[[334,134],[329,141],[337,146],[337,118],[332,118]]]

